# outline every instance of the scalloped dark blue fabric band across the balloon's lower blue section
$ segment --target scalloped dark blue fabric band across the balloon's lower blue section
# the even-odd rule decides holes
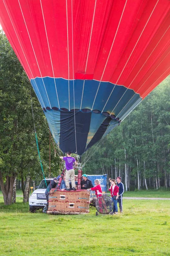
[[[47,112],[47,111],[51,111],[51,110],[54,110],[54,111],[59,111],[59,112],[72,112],[72,113],[77,113],[77,112],[82,112],[82,113],[95,113],[95,114],[101,114],[103,116],[106,116],[106,117],[110,117],[111,119],[115,119],[117,122],[121,122],[121,120],[119,120],[119,117],[116,117],[115,115],[113,114],[110,114],[108,112],[101,112],[97,109],[95,110],[91,110],[89,108],[82,108],[82,109],[71,109],[69,110],[68,108],[57,108],[57,107],[46,107],[46,108],[43,108],[43,111],[44,112]]]

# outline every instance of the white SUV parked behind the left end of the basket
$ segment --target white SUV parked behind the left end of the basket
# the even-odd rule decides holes
[[[37,209],[43,209],[47,204],[47,200],[45,197],[45,190],[47,189],[47,186],[49,185],[50,180],[53,180],[53,178],[45,178],[45,180],[42,180],[38,189],[34,190],[34,192],[31,194],[29,198],[30,212],[36,212]],[[47,186],[45,184],[45,181],[47,183]]]

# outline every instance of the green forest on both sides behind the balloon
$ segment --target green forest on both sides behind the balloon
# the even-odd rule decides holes
[[[31,102],[34,116],[32,114]],[[34,117],[34,120],[33,120]],[[48,123],[31,84],[3,31],[0,32],[0,188],[4,204],[16,188],[28,201],[30,186],[62,169]],[[99,146],[100,145],[100,146]],[[86,174],[122,177],[127,190],[170,187],[170,77],[121,124],[82,157]],[[50,162],[50,164],[49,164]]]

